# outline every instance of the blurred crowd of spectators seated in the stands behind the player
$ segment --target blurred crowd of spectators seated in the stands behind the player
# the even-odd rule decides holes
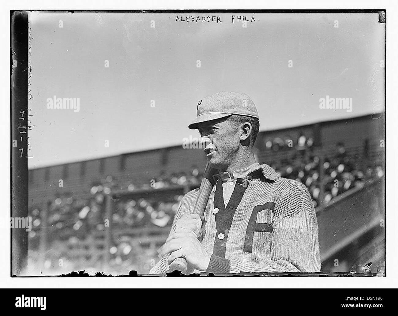
[[[327,204],[334,197],[350,189],[363,186],[369,179],[383,176],[381,166],[359,169],[352,157],[347,154],[343,144],[336,145],[334,154],[322,157],[313,150],[311,138],[299,137],[293,147],[288,141],[279,138],[273,142],[266,142],[265,148],[270,153],[284,151],[285,154],[282,159],[265,161],[265,163],[274,168],[280,176],[304,183],[315,207]],[[271,154],[269,156],[272,157]],[[47,218],[42,218],[41,210],[33,207],[29,212],[33,217],[29,248],[38,245],[37,231],[43,226],[44,220],[46,227],[51,230],[50,236],[53,236],[53,239],[64,240],[69,244],[76,242],[76,238],[87,238],[93,231],[104,231],[107,220],[113,229],[166,227],[172,223],[183,193],[199,187],[201,178],[202,174],[195,166],[188,174],[162,172],[150,183],[119,183],[112,176],[107,176],[93,183],[91,188],[88,188],[90,193],[84,199],[77,199],[73,194],[56,197],[47,209]],[[173,191],[177,187],[185,189]],[[107,195],[122,189],[131,192],[131,195],[127,194],[126,198],[116,199],[111,218],[107,218],[105,203]],[[162,191],[160,189],[164,191],[161,199],[159,195],[156,199],[151,197],[151,191]],[[135,197],[133,193],[138,190],[147,192],[144,197],[142,195]],[[132,264],[134,260],[131,256],[138,255],[132,248],[129,238],[125,238],[127,239],[112,240],[110,253],[111,261],[115,265],[123,262],[127,264],[125,260],[132,260]],[[149,267],[145,267],[145,270],[147,269]]]

